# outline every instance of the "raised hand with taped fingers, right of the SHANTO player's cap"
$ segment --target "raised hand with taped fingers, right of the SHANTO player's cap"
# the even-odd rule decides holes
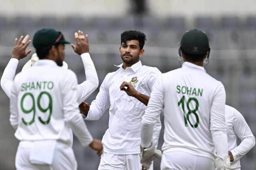
[[[78,55],[81,55],[83,53],[89,53],[88,35],[86,34],[84,39],[83,31],[79,30],[78,32],[75,32],[75,38],[76,46],[74,44],[71,44],[74,52]]]

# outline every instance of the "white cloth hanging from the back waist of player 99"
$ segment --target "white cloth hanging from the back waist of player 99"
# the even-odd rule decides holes
[[[52,164],[56,140],[33,141],[29,160],[32,164]]]

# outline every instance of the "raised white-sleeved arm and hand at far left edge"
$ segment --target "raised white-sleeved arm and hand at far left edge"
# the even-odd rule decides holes
[[[29,37],[28,35],[26,37]],[[7,64],[6,68],[4,69],[4,73],[1,78],[1,87],[10,98],[11,96],[11,86],[13,84],[13,79],[15,76],[15,72],[19,63],[20,59],[26,57],[32,50],[26,51],[26,47],[28,47],[30,40],[26,42],[22,41],[23,36],[20,37],[19,41],[16,38],[14,42],[14,48],[12,50],[12,58],[10,59],[9,63]],[[22,43],[23,42],[23,43]]]

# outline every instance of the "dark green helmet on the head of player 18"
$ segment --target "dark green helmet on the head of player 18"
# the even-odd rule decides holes
[[[180,50],[190,55],[206,54],[210,50],[206,33],[198,29],[186,31],[180,41]]]

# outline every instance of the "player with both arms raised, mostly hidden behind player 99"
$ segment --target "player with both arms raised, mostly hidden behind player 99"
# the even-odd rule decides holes
[[[78,31],[79,34],[82,33],[82,31]],[[78,33],[76,33],[78,35]],[[77,40],[80,40],[77,38]],[[76,47],[76,53],[81,56],[82,62],[84,64],[84,70],[86,75],[86,81],[82,82],[81,84],[77,85],[77,101],[78,104],[82,103],[88,96],[96,90],[99,84],[98,76],[96,69],[94,67],[94,64],[92,62],[92,59],[89,54],[89,44],[88,44],[88,36],[86,37],[86,41],[77,41]],[[27,51],[27,55],[32,50]],[[19,56],[19,55],[12,55],[12,58],[10,59],[9,63],[7,64],[6,68],[4,69],[4,73],[1,78],[1,87],[6,93],[6,95],[10,98],[10,89],[13,83],[13,79],[15,76],[16,68],[18,66],[18,62],[22,58],[14,58],[14,57],[25,57],[25,56]],[[31,59],[23,66],[22,71],[30,68],[34,65],[34,63],[38,61],[38,56],[36,53],[34,53],[31,57]],[[63,66],[67,69],[67,64],[63,61]],[[71,139],[71,146],[73,143],[73,134],[72,130],[70,129],[70,139]]]

